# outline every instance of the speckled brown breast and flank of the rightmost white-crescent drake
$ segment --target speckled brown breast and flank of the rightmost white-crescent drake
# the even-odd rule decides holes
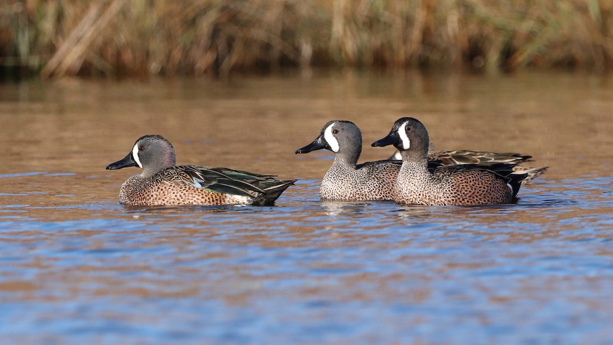
[[[403,168],[394,200],[399,204],[466,206],[511,203],[512,198],[506,182],[489,171],[440,168],[432,175]]]

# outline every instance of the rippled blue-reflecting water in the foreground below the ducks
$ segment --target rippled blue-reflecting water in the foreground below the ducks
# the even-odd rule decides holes
[[[0,332],[51,343],[604,344],[609,180],[549,181],[487,207],[320,202],[316,180],[273,207],[7,205],[22,218],[0,222]]]

